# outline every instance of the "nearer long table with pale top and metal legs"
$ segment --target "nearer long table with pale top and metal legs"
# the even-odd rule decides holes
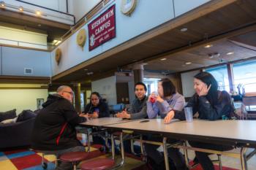
[[[256,148],[256,121],[255,120],[194,120],[192,123],[186,121],[173,120],[170,124],[165,124],[163,120],[153,119],[148,122],[142,120],[129,121],[125,123],[116,123],[103,125],[104,128],[118,130],[132,130],[139,133],[162,134],[162,142],[165,154],[166,169],[167,163],[167,145],[166,137],[175,139],[193,140],[198,142],[209,142],[212,144],[231,144],[241,148],[241,152],[229,153],[219,152],[217,150],[203,150],[200,148],[176,145],[173,147],[183,148],[185,150],[197,150],[211,153],[221,153],[236,158],[241,158],[241,168],[247,169],[246,161],[255,155],[255,150],[246,155],[249,147]]]

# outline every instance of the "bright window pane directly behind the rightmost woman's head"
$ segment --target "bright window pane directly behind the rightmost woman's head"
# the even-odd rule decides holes
[[[206,72],[211,73],[217,80],[219,90],[230,91],[230,86],[227,76],[227,66],[217,66],[211,69],[206,69]]]

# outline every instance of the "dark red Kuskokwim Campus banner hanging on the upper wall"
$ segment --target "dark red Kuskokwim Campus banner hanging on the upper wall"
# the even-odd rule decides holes
[[[89,51],[116,37],[116,5],[88,24]]]

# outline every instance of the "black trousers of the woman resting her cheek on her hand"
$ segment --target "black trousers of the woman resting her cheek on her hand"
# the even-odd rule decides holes
[[[203,142],[192,142],[192,141],[189,141],[189,144],[192,147],[198,147],[198,148],[203,148],[208,150],[218,150],[218,151],[233,150],[232,146],[221,145],[221,144],[208,144]],[[195,151],[195,156],[197,157],[203,169],[214,170],[214,163],[211,162],[211,159],[208,157],[208,155],[211,155],[211,153]]]

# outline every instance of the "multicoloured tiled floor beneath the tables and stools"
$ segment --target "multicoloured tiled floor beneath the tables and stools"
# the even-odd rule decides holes
[[[108,157],[110,155],[104,155],[102,152],[97,150],[98,146],[92,147],[92,152],[94,152],[94,158],[99,157]],[[233,150],[233,152],[239,152],[238,149]],[[189,151],[189,158],[194,158],[194,152]],[[54,169],[54,160],[53,155],[46,155],[45,159],[48,161],[48,169]],[[42,170],[41,166],[42,154],[35,152],[34,150],[12,150],[0,152],[0,170]],[[116,163],[120,162],[120,158],[117,159]],[[132,158],[131,156],[126,157],[126,161],[121,170],[134,169],[134,170],[145,170],[148,169],[145,163],[139,158]],[[144,166],[143,166],[144,165]],[[222,155],[222,165],[230,167],[233,169],[241,169],[240,159],[230,158]],[[253,156],[248,161],[249,170],[256,169],[256,156]],[[200,167],[196,168],[200,170]],[[225,170],[224,168],[223,170]],[[228,168],[227,168],[228,169]],[[229,169],[231,170],[231,169]]]

